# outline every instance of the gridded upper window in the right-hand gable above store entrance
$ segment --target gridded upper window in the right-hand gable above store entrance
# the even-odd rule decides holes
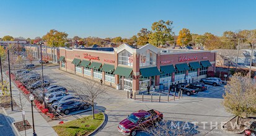
[[[145,51],[139,55],[139,66],[154,66],[156,65],[156,53],[153,53],[150,50]]]

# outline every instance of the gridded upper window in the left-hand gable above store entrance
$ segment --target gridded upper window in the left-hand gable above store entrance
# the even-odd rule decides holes
[[[118,64],[133,66],[133,54],[126,50],[121,51],[118,53]]]

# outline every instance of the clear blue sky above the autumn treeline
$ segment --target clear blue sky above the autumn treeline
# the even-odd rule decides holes
[[[51,29],[73,36],[130,38],[153,22],[172,20],[173,32],[221,36],[256,28],[254,0],[0,0],[0,37],[42,37]]]

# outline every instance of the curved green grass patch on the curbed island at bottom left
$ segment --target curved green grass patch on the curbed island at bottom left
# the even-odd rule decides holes
[[[97,129],[97,127],[104,121],[104,114],[95,114],[95,119],[91,116],[83,117],[74,121],[69,121],[64,124],[53,127],[55,132],[60,136],[68,135],[88,135],[90,132]]]

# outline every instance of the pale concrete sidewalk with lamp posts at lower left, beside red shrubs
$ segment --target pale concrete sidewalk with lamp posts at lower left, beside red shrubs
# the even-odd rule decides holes
[[[4,74],[4,79],[9,81],[9,78]],[[21,93],[21,97],[24,98],[24,95]],[[19,90],[18,88],[12,83],[12,98],[16,103],[19,103]],[[31,114],[31,103],[26,98],[23,99],[24,101],[24,111],[25,111],[25,119],[29,121],[29,124],[32,125],[32,114]],[[12,119],[13,122],[22,121],[22,113],[17,112],[8,115]],[[51,127],[48,122],[41,116],[38,111],[33,108],[33,116],[34,116],[34,123],[35,123],[35,132],[38,136],[46,136],[46,135],[57,135],[55,130]],[[17,132],[18,135],[25,135],[25,131]],[[33,134],[33,129],[26,130],[27,135]]]

